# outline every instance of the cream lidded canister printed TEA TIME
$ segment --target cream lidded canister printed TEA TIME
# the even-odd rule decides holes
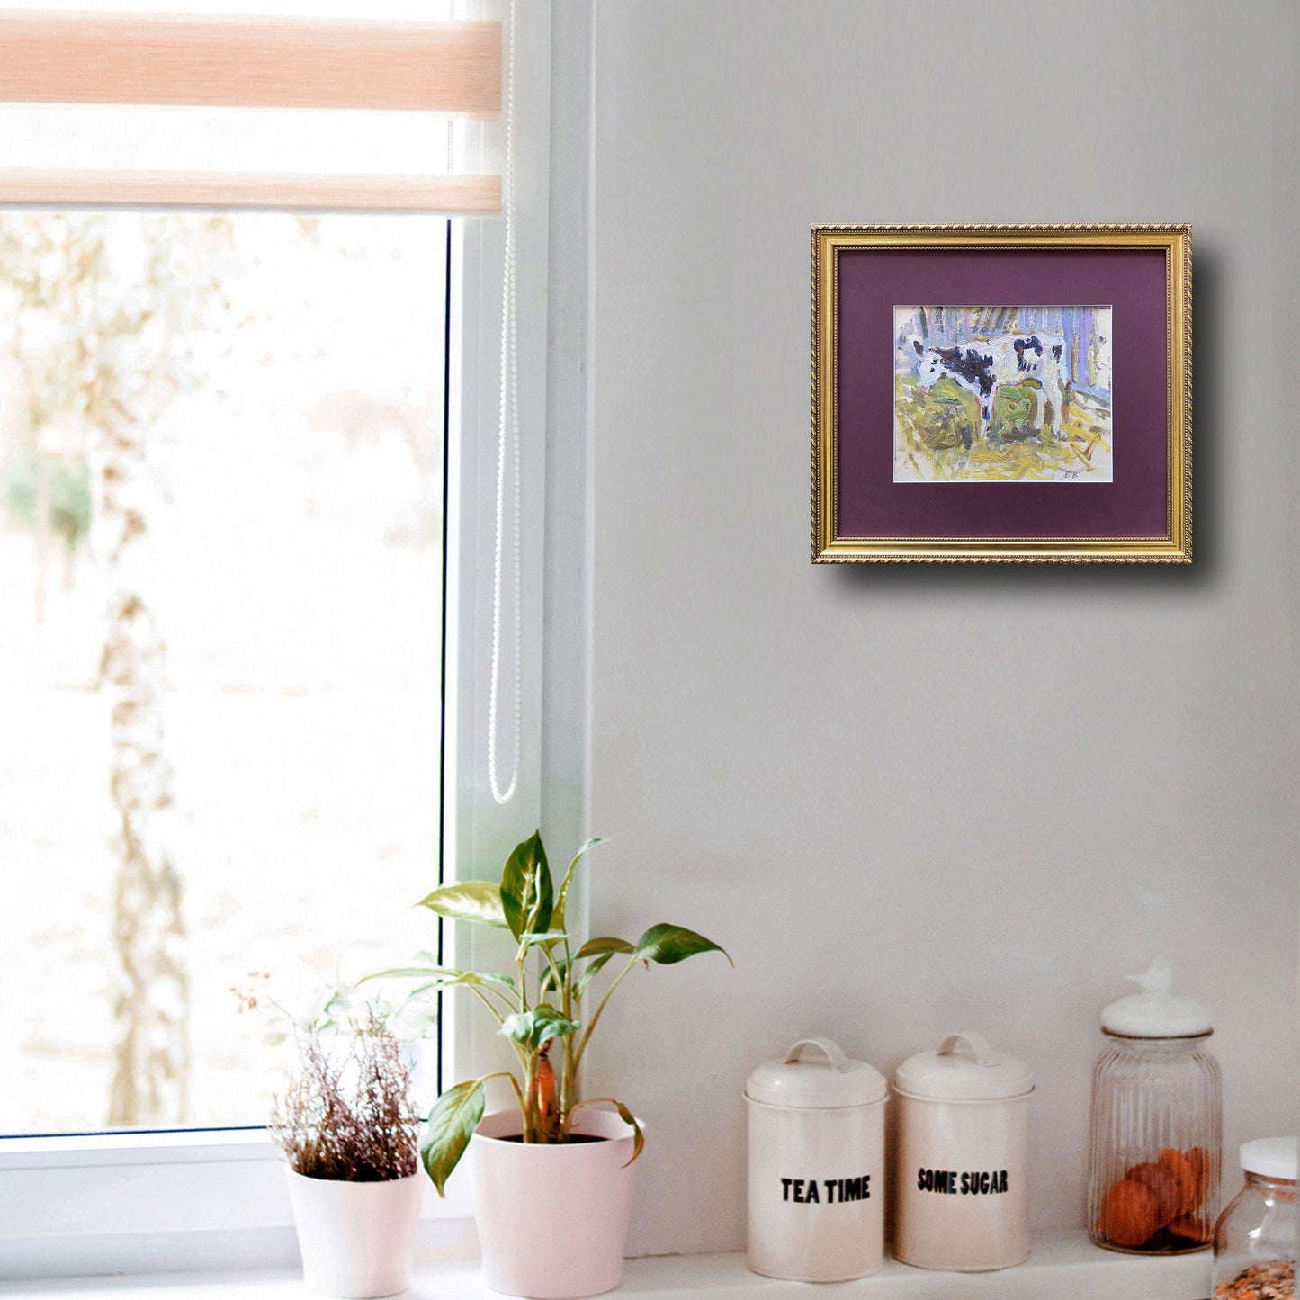
[[[805,1048],[822,1056],[803,1060]],[[829,1039],[801,1039],[757,1066],[749,1110],[754,1273],[846,1282],[884,1261],[884,1075]]]

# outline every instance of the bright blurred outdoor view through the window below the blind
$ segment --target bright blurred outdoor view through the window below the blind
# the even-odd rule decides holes
[[[0,1132],[261,1123],[231,989],[429,946],[446,252],[0,212]]]

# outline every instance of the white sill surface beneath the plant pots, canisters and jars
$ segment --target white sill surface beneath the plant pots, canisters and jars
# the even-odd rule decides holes
[[[1204,1300],[1210,1294],[1210,1257],[1200,1254],[1141,1258],[1092,1245],[1082,1231],[1037,1236],[1026,1264],[1000,1273],[928,1273],[894,1260],[858,1282],[826,1284],[818,1295],[862,1296],[864,1300]],[[801,1282],[759,1278],[745,1268],[744,1254],[659,1256],[629,1260],[619,1295],[641,1300],[786,1300],[806,1297]],[[0,1295],[18,1300],[69,1295],[87,1300],[298,1300],[296,1270],[259,1273],[191,1273],[151,1277],[78,1278],[0,1284]],[[455,1295],[471,1300],[491,1296],[472,1264],[416,1268],[411,1300]]]

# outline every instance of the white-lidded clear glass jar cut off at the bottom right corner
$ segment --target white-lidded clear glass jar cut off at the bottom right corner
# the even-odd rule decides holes
[[[1214,1225],[1214,1300],[1295,1300],[1295,1138],[1242,1145],[1245,1186]]]

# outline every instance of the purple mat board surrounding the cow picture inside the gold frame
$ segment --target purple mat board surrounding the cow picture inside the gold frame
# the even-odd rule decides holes
[[[838,537],[1167,537],[1162,248],[841,248]],[[893,482],[894,307],[1110,306],[1114,482]]]

